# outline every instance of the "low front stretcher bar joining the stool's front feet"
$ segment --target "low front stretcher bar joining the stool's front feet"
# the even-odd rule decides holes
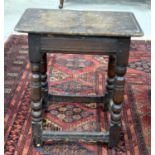
[[[47,140],[68,140],[84,142],[109,142],[108,132],[64,132],[64,131],[46,131],[42,133],[43,141]]]

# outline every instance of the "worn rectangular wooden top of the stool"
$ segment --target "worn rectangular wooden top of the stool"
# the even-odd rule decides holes
[[[27,9],[15,31],[79,36],[142,36],[130,12]]]

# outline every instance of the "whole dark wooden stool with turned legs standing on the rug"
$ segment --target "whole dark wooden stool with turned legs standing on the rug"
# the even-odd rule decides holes
[[[43,141],[85,140],[117,145],[120,139],[121,111],[124,98],[125,73],[128,65],[131,37],[143,32],[130,12],[69,11],[27,9],[15,27],[28,33],[32,87],[33,144]],[[48,94],[47,53],[108,55],[108,78],[103,96]],[[103,103],[110,112],[107,132],[62,132],[42,130],[44,109],[52,101]]]

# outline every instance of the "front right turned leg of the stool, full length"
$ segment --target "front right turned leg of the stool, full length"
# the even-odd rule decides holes
[[[129,56],[130,38],[120,39],[119,51],[116,58],[116,77],[113,92],[113,100],[111,103],[111,120],[110,120],[110,141],[109,147],[114,147],[120,140],[121,129],[121,111],[124,100],[124,84],[128,56]]]

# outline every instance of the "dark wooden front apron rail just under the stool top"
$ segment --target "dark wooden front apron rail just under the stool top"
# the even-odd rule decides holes
[[[116,53],[117,37],[45,36],[41,38],[41,50],[51,53],[103,55]]]

